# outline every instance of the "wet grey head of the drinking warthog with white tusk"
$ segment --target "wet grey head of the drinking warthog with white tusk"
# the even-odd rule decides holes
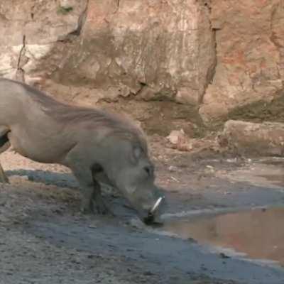
[[[119,138],[110,138],[107,144],[109,169],[104,170],[111,182],[136,209],[144,223],[161,223],[165,198],[154,184],[154,165],[146,147],[133,143],[131,139]]]

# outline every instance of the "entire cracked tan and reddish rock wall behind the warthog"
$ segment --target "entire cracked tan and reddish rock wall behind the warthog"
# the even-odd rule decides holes
[[[0,76],[79,104],[178,102],[210,124],[283,91],[283,14],[283,0],[1,1]]]

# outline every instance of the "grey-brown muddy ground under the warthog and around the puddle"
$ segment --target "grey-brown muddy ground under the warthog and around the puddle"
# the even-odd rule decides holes
[[[152,137],[165,222],[195,214],[282,206],[284,161],[245,159],[210,149],[179,152]],[[7,151],[1,163],[0,283],[284,283],[284,269],[226,256],[192,238],[144,226],[111,188],[116,217],[83,215],[70,171]]]

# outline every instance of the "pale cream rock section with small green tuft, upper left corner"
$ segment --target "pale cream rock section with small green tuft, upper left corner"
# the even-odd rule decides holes
[[[64,41],[80,33],[87,9],[87,0],[66,2],[0,2],[1,76],[33,82],[60,68]]]

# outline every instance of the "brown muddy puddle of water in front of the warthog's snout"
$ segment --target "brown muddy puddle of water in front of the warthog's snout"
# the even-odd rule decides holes
[[[163,230],[284,266],[284,208],[183,219],[166,223]]]

